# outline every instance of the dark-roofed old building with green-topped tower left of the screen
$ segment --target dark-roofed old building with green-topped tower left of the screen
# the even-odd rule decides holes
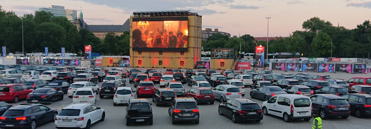
[[[130,31],[130,20],[129,18],[122,25],[88,25],[83,19],[83,14],[80,12],[79,18],[75,19],[73,24],[77,27],[77,30],[86,29],[93,32],[93,34],[104,39],[108,32],[113,32],[115,35],[122,35],[125,31]]]

